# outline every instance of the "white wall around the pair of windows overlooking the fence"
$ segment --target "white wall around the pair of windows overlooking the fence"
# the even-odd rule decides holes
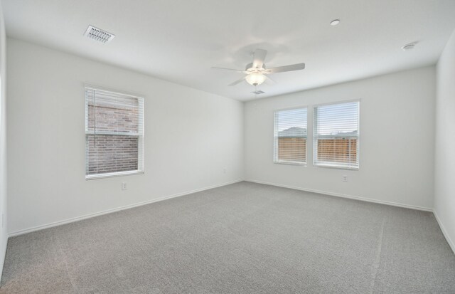
[[[342,73],[341,73],[342,74]],[[432,209],[435,68],[253,100],[245,104],[245,178]],[[360,99],[360,169],[273,163],[273,111]],[[312,142],[309,109],[309,142]],[[342,176],[348,175],[348,182]]]

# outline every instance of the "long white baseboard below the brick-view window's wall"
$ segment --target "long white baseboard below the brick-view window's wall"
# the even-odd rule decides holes
[[[204,188],[200,188],[200,189],[196,189],[196,190],[192,190],[192,191],[185,191],[185,192],[182,192],[182,193],[173,194],[173,195],[169,195],[169,196],[164,196],[164,197],[160,197],[160,198],[156,198],[156,199],[151,199],[151,200],[147,200],[147,201],[143,201],[143,202],[139,202],[139,203],[135,203],[135,204],[129,204],[129,205],[125,205],[125,206],[120,206],[120,207],[117,207],[117,208],[114,208],[114,209],[107,209],[105,211],[95,212],[93,214],[85,214],[83,216],[76,216],[76,217],[73,217],[73,218],[70,218],[70,219],[64,219],[62,221],[54,221],[53,223],[50,223],[50,224],[43,224],[43,225],[40,225],[40,226],[33,226],[32,228],[22,229],[22,230],[10,232],[9,233],[9,237],[19,236],[19,235],[23,235],[24,233],[31,233],[33,231],[39,231],[39,230],[43,230],[43,229],[48,229],[48,228],[52,228],[53,226],[61,226],[63,224],[73,223],[75,221],[82,221],[82,219],[90,219],[90,218],[95,217],[95,216],[102,216],[103,214],[110,214],[112,212],[121,211],[121,210],[124,210],[124,209],[132,209],[133,207],[142,206],[142,205],[146,205],[146,204],[151,204],[151,203],[154,203],[154,202],[163,201],[163,200],[171,199],[171,198],[176,198],[176,197],[184,196],[184,195],[188,195],[188,194],[193,194],[193,193],[196,193],[196,192],[199,192],[199,191],[205,191],[205,190],[208,190],[208,189],[223,187],[223,186],[226,186],[226,185],[235,184],[235,183],[242,182],[242,181],[243,181],[243,179],[239,179],[239,180],[232,181],[232,182],[227,182],[227,183],[223,183],[223,184],[218,184],[218,185],[213,185],[213,186],[209,186],[209,187],[204,187]]]

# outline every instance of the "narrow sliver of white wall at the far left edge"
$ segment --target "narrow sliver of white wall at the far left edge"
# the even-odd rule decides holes
[[[8,243],[6,179],[6,33],[0,3],[0,278]]]

